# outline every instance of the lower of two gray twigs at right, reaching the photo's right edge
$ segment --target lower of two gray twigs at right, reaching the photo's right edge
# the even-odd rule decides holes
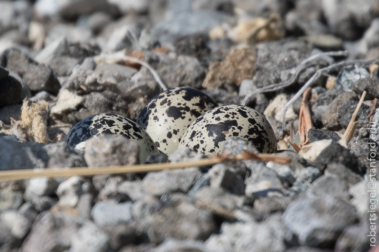
[[[305,84],[304,86],[302,86],[300,88],[300,90],[295,94],[294,97],[292,97],[288,102],[287,104],[284,106],[284,110],[283,110],[283,113],[282,113],[282,116],[280,117],[280,120],[279,120],[279,123],[280,121],[283,122],[282,124],[282,129],[283,131],[286,129],[286,112],[287,110],[291,107],[292,103],[294,103],[294,101],[300,97],[303,92],[310,86],[312,86],[312,84],[314,84],[317,79],[323,75],[324,73],[328,73],[328,72],[331,72],[333,70],[336,70],[338,68],[341,68],[341,67],[345,67],[345,66],[349,66],[349,65],[354,65],[354,64],[360,64],[362,67],[368,67],[372,64],[374,64],[375,62],[377,62],[378,59],[357,59],[357,60],[345,60],[345,61],[342,61],[342,62],[339,62],[339,63],[336,63],[336,64],[333,64],[333,65],[330,65],[328,67],[324,67],[320,70],[318,70],[316,72],[316,74],[314,74],[312,76],[312,78],[310,78]],[[279,127],[279,123],[277,125],[277,127]]]

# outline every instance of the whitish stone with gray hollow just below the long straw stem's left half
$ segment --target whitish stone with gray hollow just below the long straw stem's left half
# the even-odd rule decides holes
[[[59,204],[75,207],[80,195],[85,193],[86,187],[88,187],[87,183],[80,176],[72,176],[64,180],[57,189]]]

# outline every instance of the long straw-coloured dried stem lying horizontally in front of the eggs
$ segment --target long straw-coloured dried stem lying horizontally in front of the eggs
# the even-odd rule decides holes
[[[275,154],[253,154],[244,152],[236,156],[216,156],[205,158],[198,161],[163,163],[163,164],[146,164],[133,166],[107,166],[107,167],[78,167],[78,168],[62,168],[62,169],[27,169],[27,170],[12,170],[0,171],[0,181],[21,180],[32,177],[57,177],[57,176],[92,176],[97,174],[123,174],[123,173],[143,173],[151,171],[160,171],[166,169],[178,169],[193,166],[208,166],[221,162],[257,159],[262,161],[274,161],[281,164],[291,162],[290,158],[275,155]]]

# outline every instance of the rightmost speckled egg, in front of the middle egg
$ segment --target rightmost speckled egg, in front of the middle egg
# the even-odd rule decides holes
[[[205,155],[217,155],[231,137],[252,141],[261,153],[276,151],[275,133],[268,120],[241,105],[219,106],[199,116],[184,133],[178,148],[188,146]]]

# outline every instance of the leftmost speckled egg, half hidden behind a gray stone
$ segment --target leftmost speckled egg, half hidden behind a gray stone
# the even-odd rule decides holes
[[[92,136],[119,134],[134,140],[140,148],[140,163],[144,163],[151,152],[159,153],[157,146],[147,132],[125,116],[99,114],[78,122],[68,133],[66,143],[75,147]]]

